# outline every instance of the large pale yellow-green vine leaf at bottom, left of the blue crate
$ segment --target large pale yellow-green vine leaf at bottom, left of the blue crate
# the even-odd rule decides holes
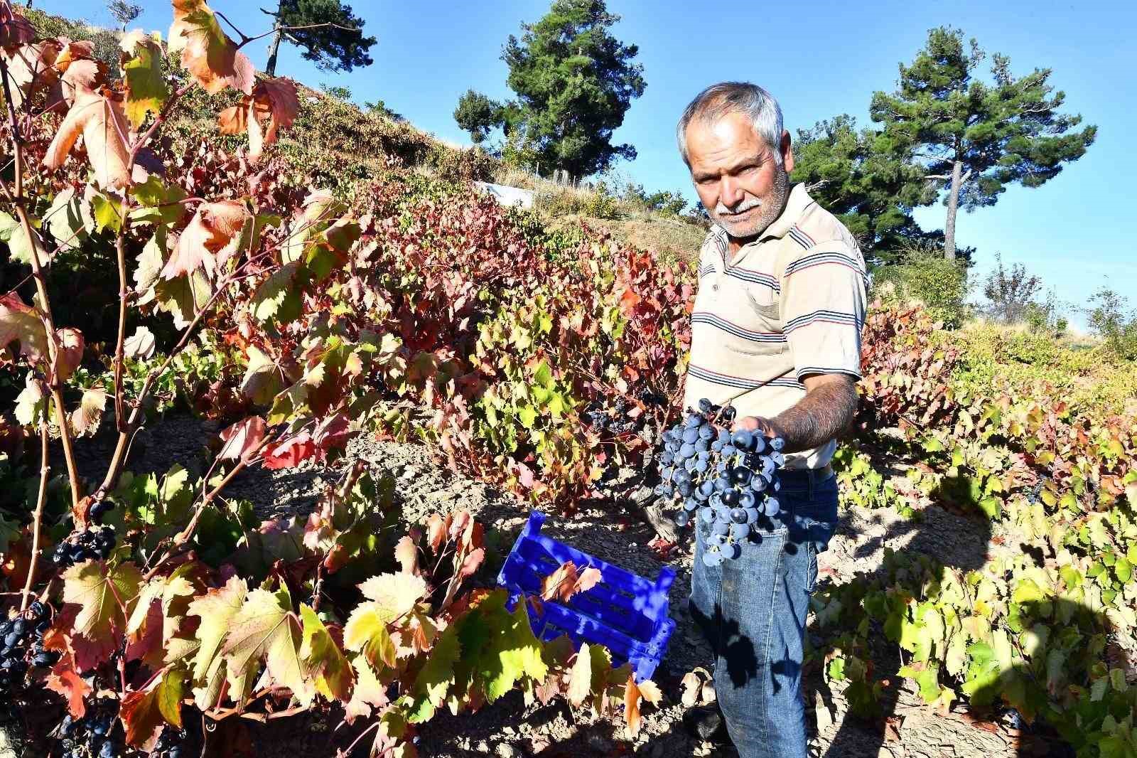
[[[268,676],[291,690],[302,705],[308,705],[314,689],[304,676],[299,648],[300,624],[292,612],[288,590],[252,590],[233,617],[224,656],[230,676],[235,674],[244,682],[252,678],[264,659]]]

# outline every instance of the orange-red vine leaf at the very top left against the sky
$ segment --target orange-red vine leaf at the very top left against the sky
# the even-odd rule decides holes
[[[174,23],[169,27],[171,55],[182,53],[182,66],[207,92],[217,94],[226,86],[252,92],[256,69],[233,43],[205,0],[173,0]]]

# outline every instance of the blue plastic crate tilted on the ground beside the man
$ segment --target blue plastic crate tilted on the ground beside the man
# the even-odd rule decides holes
[[[575,563],[578,571],[597,568],[600,582],[567,603],[542,601],[540,611],[530,605],[533,634],[545,641],[567,634],[578,649],[581,642],[601,644],[612,652],[614,665],[632,665],[637,682],[650,677],[675,628],[675,621],[667,616],[674,569],[665,566],[659,578],[648,582],[542,536],[543,524],[545,514],[533,511],[498,574],[498,584],[509,591],[509,608],[515,608],[522,595],[540,596],[542,580],[565,561]]]

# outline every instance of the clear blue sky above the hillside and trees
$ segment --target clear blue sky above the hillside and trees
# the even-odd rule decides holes
[[[144,7],[135,26],[169,26],[169,6],[139,0]],[[266,0],[269,2],[271,0]],[[247,34],[268,28],[262,2],[214,0]],[[277,74],[309,85],[322,82],[350,88],[357,102],[382,99],[388,107],[438,137],[468,143],[454,123],[458,97],[467,88],[490,97],[511,96],[505,85],[501,46],[521,22],[533,22],[547,0],[498,0],[466,3],[355,3],[379,38],[368,68],[327,75],[284,46]],[[1098,125],[1096,143],[1081,160],[1039,189],[1012,188],[998,205],[961,214],[957,239],[978,247],[974,271],[981,278],[1002,253],[1004,263],[1021,262],[1056,287],[1060,299],[1081,306],[1103,285],[1130,297],[1137,307],[1137,244],[1127,232],[1134,217],[1137,150],[1127,133],[1137,102],[1137,3],[1127,0],[1052,2],[1049,0],[960,0],[953,3],[882,0],[848,3],[821,1],[738,8],[699,3],[608,0],[622,16],[614,33],[639,46],[647,91],[632,102],[615,138],[636,146],[639,157],[622,162],[623,175],[648,189],[681,189],[695,195],[674,146],[674,122],[690,98],[707,84],[748,80],[780,100],[786,125],[798,127],[839,113],[868,123],[873,90],[891,90],[897,64],[911,60],[927,30],[953,25],[976,36],[988,51],[1011,57],[1022,75],[1035,67],[1054,69],[1052,82],[1067,92],[1067,112],[1081,113]],[[98,0],[38,0],[50,13],[111,25]],[[717,8],[724,8],[722,10]],[[267,42],[247,51],[259,67]],[[1130,124],[1127,126],[1127,124]],[[924,228],[941,228],[944,208],[918,211]],[[1070,313],[1076,324],[1084,318]]]

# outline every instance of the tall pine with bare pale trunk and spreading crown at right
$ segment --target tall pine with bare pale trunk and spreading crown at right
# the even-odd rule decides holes
[[[901,64],[891,94],[873,94],[870,113],[883,138],[907,146],[927,178],[947,189],[944,253],[955,257],[958,208],[991,206],[1006,186],[1039,187],[1077,160],[1093,143],[1096,126],[1074,127],[1081,116],[1059,113],[1065,93],[1054,92],[1051,69],[1011,74],[1006,56],[991,56],[991,81],[976,76],[986,59],[974,40],[939,27],[911,65]]]

